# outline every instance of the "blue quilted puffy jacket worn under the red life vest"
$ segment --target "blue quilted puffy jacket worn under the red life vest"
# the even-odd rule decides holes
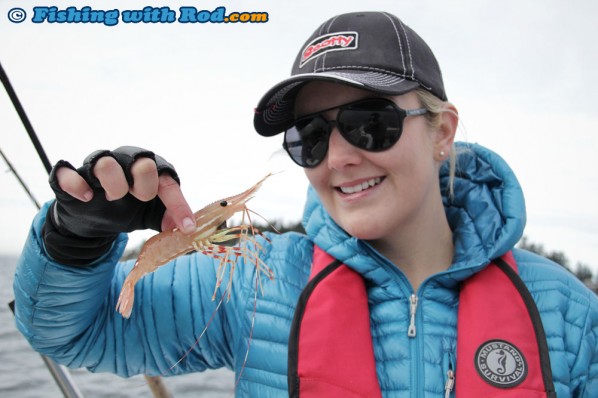
[[[262,259],[276,279],[261,279],[256,301],[255,267],[240,259],[232,297],[211,320],[219,302],[211,300],[216,265],[212,259],[187,255],[143,278],[136,287],[131,318],[125,320],[114,308],[132,266],[117,264],[126,236],[89,267],[57,264],[40,238],[46,206],[34,220],[16,272],[18,328],[36,350],[70,367],[130,376],[226,366],[237,374],[242,370],[238,396],[283,397],[289,329],[315,243],[366,279],[383,395],[444,397],[447,370],[456,360],[459,282],[512,249],[525,224],[521,188],[500,157],[468,145],[459,159],[455,197],[445,198],[454,233],[454,263],[415,292],[415,337],[407,336],[409,297],[414,293],[408,280],[370,245],[339,228],[311,189],[304,216],[307,236],[287,233],[270,235],[271,242],[260,239]],[[443,190],[447,180],[444,167]],[[561,266],[521,250],[514,255],[541,313],[557,396],[598,397],[596,296]],[[199,344],[171,368],[207,323]]]

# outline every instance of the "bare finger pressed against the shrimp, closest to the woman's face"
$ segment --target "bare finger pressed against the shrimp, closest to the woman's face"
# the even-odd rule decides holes
[[[162,219],[163,231],[175,226],[187,234],[195,230],[193,211],[185,200],[181,187],[169,174],[160,176],[158,197],[166,206],[166,212]]]

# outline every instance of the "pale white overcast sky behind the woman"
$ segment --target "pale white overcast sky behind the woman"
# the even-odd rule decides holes
[[[598,271],[598,2],[505,1],[93,1],[95,9],[195,6],[264,11],[262,24],[34,24],[41,0],[0,3],[0,62],[52,163],[138,145],[174,163],[192,207],[237,193],[269,171],[251,208],[299,220],[307,187],[259,137],[253,108],[288,76],[311,32],[347,11],[386,10],[435,52],[458,139],[503,156],[523,186],[525,235]],[[29,15],[15,24],[8,12]],[[47,176],[14,108],[0,92],[0,147],[39,201]],[[6,165],[0,161],[3,171]],[[0,253],[20,252],[36,209],[15,177],[0,174]],[[143,234],[133,237],[141,239]]]

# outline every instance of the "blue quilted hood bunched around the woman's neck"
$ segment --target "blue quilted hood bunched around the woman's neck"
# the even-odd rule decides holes
[[[448,195],[448,162],[440,169],[442,198],[455,244],[453,265],[446,276],[454,282],[511,250],[525,226],[523,192],[507,163],[477,144],[456,143],[456,149],[453,198]],[[362,274],[371,272],[380,262],[388,262],[367,242],[340,228],[311,186],[303,224],[316,245]]]

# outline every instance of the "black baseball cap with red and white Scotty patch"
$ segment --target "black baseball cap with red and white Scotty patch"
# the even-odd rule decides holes
[[[432,50],[417,33],[387,12],[354,12],[324,22],[295,59],[291,77],[259,101],[256,131],[273,136],[293,121],[295,96],[307,82],[332,81],[382,95],[418,87],[446,101],[442,73]]]

